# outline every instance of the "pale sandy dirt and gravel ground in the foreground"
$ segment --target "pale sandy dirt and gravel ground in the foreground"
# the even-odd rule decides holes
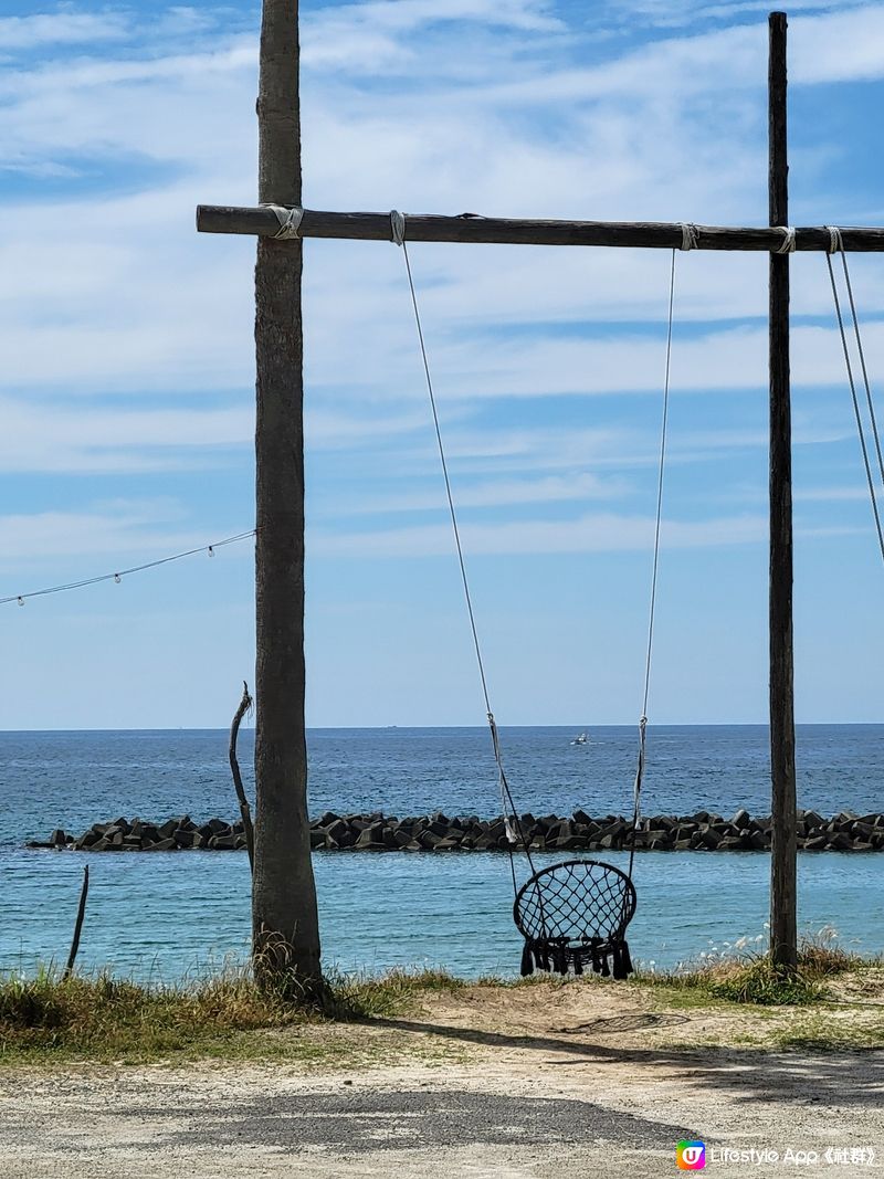
[[[880,995],[846,997],[826,1022],[882,1026]],[[680,1139],[718,1175],[879,1171],[884,1050],[771,1047],[812,1041],[818,1017],[603,983],[471,988],[281,1033],[272,1063],[5,1072],[0,1174],[641,1179],[677,1173]],[[314,1062],[286,1060],[305,1038]]]

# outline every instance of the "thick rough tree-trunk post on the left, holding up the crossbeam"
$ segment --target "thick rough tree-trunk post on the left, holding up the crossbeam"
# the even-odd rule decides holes
[[[264,0],[258,199],[301,204],[297,0]],[[299,241],[258,241],[255,877],[259,983],[322,983],[304,733],[304,440]]]

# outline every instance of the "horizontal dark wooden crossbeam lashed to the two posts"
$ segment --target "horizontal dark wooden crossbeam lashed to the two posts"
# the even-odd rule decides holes
[[[275,237],[279,220],[266,206],[199,205],[197,229],[202,233],[248,233]],[[785,233],[779,228],[692,225],[698,250],[745,250],[776,253]],[[305,209],[299,226],[304,238],[344,238],[363,242],[389,242],[389,213],[328,212]],[[840,228],[844,249],[853,253],[884,252],[884,229],[872,226]],[[441,217],[408,213],[405,236],[409,242],[463,242],[493,245],[601,245],[649,250],[673,250],[682,245],[682,225],[678,222],[583,222],[534,220],[526,218],[479,217],[461,213]],[[794,230],[794,248],[801,252],[831,249],[831,235],[825,225]]]

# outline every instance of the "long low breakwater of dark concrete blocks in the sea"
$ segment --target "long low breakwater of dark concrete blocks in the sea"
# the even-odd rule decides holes
[[[532,851],[619,851],[632,845],[632,821],[622,815],[593,818],[578,810],[570,817],[520,816]],[[710,811],[694,815],[655,815],[642,818],[634,835],[640,851],[766,851],[771,847],[770,817],[753,818],[739,810],[730,819]],[[326,811],[310,824],[315,850],[347,851],[503,851],[502,818],[449,818],[441,811],[420,818],[336,815]],[[28,848],[74,851],[237,851],[245,848],[242,822],[212,818],[194,823],[190,816],[165,823],[118,818],[95,823],[80,836],[59,828],[47,842]],[[884,851],[884,814],[842,811],[825,818],[798,811],[798,848],[806,851]]]

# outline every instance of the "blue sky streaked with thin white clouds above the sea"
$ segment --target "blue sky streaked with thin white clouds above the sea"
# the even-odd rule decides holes
[[[790,12],[790,219],[884,224],[884,5]],[[767,5],[302,7],[304,204],[765,224]],[[253,526],[257,0],[0,0],[0,598]],[[403,258],[304,246],[308,724],[484,706]],[[501,725],[641,710],[671,255],[415,244]],[[767,710],[766,257],[675,261],[652,724]],[[851,259],[872,381],[884,269]],[[823,256],[792,261],[796,700],[880,722],[880,554]],[[253,545],[0,605],[1,729],[222,727]]]

